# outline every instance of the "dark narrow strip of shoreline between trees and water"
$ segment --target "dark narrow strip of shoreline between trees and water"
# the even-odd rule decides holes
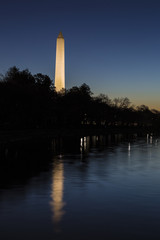
[[[106,134],[147,134],[159,135],[156,129],[146,128],[57,128],[57,129],[25,129],[25,130],[1,130],[0,143],[36,140],[44,138],[85,136],[85,135],[106,135]]]

